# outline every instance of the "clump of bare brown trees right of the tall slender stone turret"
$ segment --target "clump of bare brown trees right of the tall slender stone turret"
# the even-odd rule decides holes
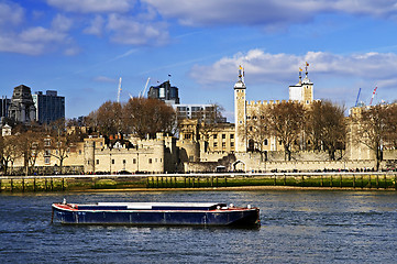
[[[283,145],[286,161],[299,150],[327,150],[334,161],[335,152],[345,147],[344,108],[330,101],[308,107],[294,101],[262,106],[247,120],[246,134],[262,156],[264,141],[274,136]]]

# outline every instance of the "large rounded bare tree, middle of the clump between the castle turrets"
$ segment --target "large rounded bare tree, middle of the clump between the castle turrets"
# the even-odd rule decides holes
[[[269,111],[269,121],[272,134],[284,145],[285,160],[290,161],[293,145],[304,131],[304,106],[293,101],[274,105]]]

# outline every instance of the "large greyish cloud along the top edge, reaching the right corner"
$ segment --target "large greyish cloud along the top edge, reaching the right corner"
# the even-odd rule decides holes
[[[165,18],[177,19],[185,25],[285,25],[312,20],[322,12],[393,16],[395,1],[387,0],[142,0],[156,8]]]

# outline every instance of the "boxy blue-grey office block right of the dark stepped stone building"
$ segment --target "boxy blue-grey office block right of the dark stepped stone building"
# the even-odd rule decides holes
[[[36,120],[40,123],[51,123],[65,118],[65,97],[58,96],[57,91],[47,90],[45,95],[36,91],[33,101],[36,107]]]

